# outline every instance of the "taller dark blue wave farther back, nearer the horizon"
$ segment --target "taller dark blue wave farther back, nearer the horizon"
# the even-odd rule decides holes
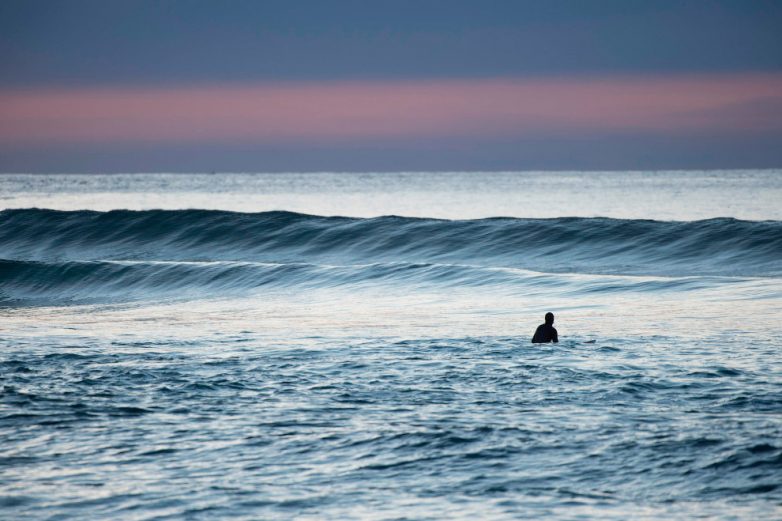
[[[290,212],[25,209],[0,212],[0,258],[457,263],[560,273],[778,276],[782,221],[444,221]]]

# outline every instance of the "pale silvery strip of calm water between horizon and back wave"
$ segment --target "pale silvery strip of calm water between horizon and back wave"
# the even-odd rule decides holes
[[[0,176],[1,208],[315,215],[782,219],[782,171]]]

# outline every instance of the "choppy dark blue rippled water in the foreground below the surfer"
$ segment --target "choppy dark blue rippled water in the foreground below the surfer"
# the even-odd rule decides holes
[[[782,395],[757,371],[683,369],[648,340],[317,342],[9,353],[0,504],[33,518],[283,519],[461,498],[464,512],[496,500],[495,517],[541,502],[544,517],[588,505],[610,518],[643,502],[664,518],[664,505],[767,513],[782,500]],[[97,484],[101,498],[75,499]]]

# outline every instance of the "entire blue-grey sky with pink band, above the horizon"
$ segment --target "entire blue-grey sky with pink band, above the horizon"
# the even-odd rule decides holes
[[[778,0],[0,2],[0,172],[777,167]]]

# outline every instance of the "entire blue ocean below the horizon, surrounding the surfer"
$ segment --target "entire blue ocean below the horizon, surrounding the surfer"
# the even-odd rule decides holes
[[[780,170],[0,175],[0,518],[782,519],[781,303]]]

